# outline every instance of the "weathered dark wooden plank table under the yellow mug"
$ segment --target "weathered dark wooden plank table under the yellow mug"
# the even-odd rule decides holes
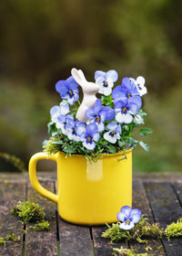
[[[39,180],[48,189],[56,191],[56,174],[39,173]],[[182,217],[182,174],[136,175],[133,182],[133,208],[140,208],[152,221],[160,223],[165,228],[172,221]],[[10,213],[17,201],[35,198],[41,207],[45,208],[46,219],[51,222],[50,231],[38,232],[23,226]],[[12,229],[13,228],[13,229]],[[6,246],[0,245],[0,255],[112,255],[113,247],[126,248],[121,242],[110,245],[109,240],[101,238],[106,226],[83,227],[67,223],[56,211],[56,205],[37,195],[29,183],[27,174],[0,174],[0,237],[15,233],[21,237],[16,244],[6,241]],[[136,252],[146,252],[146,244],[130,242],[129,248]],[[181,256],[182,239],[167,241],[149,240],[149,251],[154,255]],[[148,252],[148,253],[149,253]]]

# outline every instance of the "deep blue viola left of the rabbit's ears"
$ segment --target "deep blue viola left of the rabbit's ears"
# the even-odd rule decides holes
[[[56,82],[56,91],[59,92],[62,99],[73,105],[78,99],[78,84],[71,76],[67,80],[59,80]]]

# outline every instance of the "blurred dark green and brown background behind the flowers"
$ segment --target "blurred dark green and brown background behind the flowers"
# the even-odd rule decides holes
[[[5,0],[0,5],[0,152],[27,164],[48,138],[57,80],[83,69],[142,75],[148,94],[144,141],[136,172],[180,172],[182,165],[182,1]],[[14,170],[0,160],[0,171]],[[44,166],[46,169],[46,165]]]

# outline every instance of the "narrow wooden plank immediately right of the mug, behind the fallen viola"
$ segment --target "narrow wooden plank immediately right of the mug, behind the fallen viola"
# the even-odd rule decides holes
[[[141,179],[136,179],[133,182],[133,207],[140,208],[142,214],[146,214],[150,223],[154,223],[154,218],[152,215],[151,208],[149,207],[146,191]],[[151,254],[155,256],[164,256],[166,255],[161,240],[152,240],[148,239],[148,244],[141,244],[135,241],[130,241],[129,245],[131,249],[134,249],[137,253],[145,253],[147,246],[152,248]]]

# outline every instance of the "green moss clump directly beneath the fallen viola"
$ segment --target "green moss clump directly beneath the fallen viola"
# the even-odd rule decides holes
[[[163,229],[160,229],[159,224],[149,224],[148,219],[144,215],[141,216],[140,221],[133,229],[119,229],[119,222],[112,224],[112,226],[107,225],[107,228],[102,233],[102,237],[109,238],[111,242],[117,240],[137,240],[141,243],[147,243],[147,240],[142,239],[147,237],[159,239],[163,234]]]

